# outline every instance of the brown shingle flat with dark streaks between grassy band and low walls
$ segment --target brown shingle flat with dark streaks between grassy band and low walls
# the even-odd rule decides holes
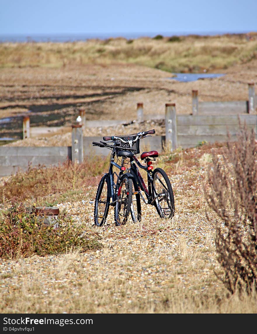
[[[149,130],[149,122],[151,128],[156,126],[156,134],[161,135],[164,124],[153,119],[163,119],[166,103],[175,103],[178,114],[190,114],[192,90],[198,90],[199,102],[248,100],[248,83],[257,83],[257,60],[219,72],[226,75],[179,82],[171,79],[169,72],[132,64],[3,68],[0,69],[0,119],[31,111],[31,117],[39,114],[45,117],[38,123],[31,121],[31,127],[67,127],[75,123],[79,109],[84,109],[87,120],[99,120],[99,127],[84,130],[85,136]],[[105,127],[105,120],[135,121],[137,103],[143,103],[145,120],[150,120],[148,124],[134,122],[127,127]],[[22,123],[16,129],[13,124],[8,134],[15,137],[17,131],[22,131]],[[2,126],[0,136],[6,134]],[[71,134],[63,133],[48,137],[39,134],[37,138],[9,145],[66,146],[70,143]]]

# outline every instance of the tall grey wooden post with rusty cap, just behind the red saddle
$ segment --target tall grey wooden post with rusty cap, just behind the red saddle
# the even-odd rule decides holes
[[[175,106],[175,103],[165,104],[165,142],[170,151],[174,151],[177,148],[177,118]]]

